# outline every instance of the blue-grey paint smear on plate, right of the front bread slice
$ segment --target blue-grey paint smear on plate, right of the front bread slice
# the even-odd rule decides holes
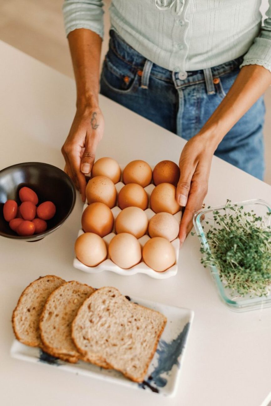
[[[147,380],[144,380],[139,384],[139,387],[145,389],[150,388],[152,392],[159,393],[158,388],[163,388],[167,384],[167,379],[162,377],[162,374],[169,373],[173,368],[173,365],[177,365],[180,368],[179,356],[182,354],[182,350],[185,346],[186,337],[189,331],[190,323],[186,323],[184,329],[180,332],[178,337],[167,343],[164,340],[160,340],[158,348],[156,350],[158,354],[158,365],[152,372]],[[155,385],[155,386],[154,386]]]

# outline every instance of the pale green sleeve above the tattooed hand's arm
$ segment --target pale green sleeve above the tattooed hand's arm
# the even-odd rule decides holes
[[[62,10],[66,35],[76,28],[87,28],[103,39],[103,6],[102,0],[65,0]]]

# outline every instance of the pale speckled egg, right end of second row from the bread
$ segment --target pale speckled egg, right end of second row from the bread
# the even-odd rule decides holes
[[[150,237],[163,237],[173,241],[178,237],[179,223],[172,214],[157,213],[150,219],[148,232]]]

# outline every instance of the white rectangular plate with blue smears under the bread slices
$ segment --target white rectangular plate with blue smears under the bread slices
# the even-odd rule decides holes
[[[128,298],[128,296],[126,297]],[[17,340],[14,340],[11,346],[11,356],[28,362],[48,364],[63,371],[89,376],[90,378],[98,378],[139,390],[145,389],[164,396],[174,396],[194,313],[188,309],[167,306],[148,300],[129,299],[142,306],[160,311],[167,317],[167,324],[158,343],[154,358],[149,366],[145,380],[140,384],[130,381],[113,369],[103,369],[83,361],[79,361],[77,364],[69,364],[43,352],[37,347],[25,346]]]

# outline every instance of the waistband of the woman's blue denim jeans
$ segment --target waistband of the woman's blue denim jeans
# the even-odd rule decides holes
[[[146,63],[146,58],[137,52],[134,48],[132,48],[124,39],[113,29],[110,30],[110,48],[115,52],[115,54],[124,60],[126,63],[131,65],[137,70],[144,69],[144,65]],[[151,69],[150,66],[148,67],[151,76],[155,76],[158,79],[175,82],[174,74],[176,73],[176,80],[180,82],[180,87],[184,85],[189,85],[189,83],[195,83],[197,81],[202,82],[203,80],[206,81],[206,71],[210,73],[212,78],[219,77],[225,73],[228,73],[234,69],[237,69],[243,61],[243,56],[240,56],[236,59],[230,60],[228,62],[222,63],[221,65],[217,65],[208,69],[200,69],[196,71],[187,71],[187,77],[184,80],[178,80],[178,73],[172,72],[168,69],[165,69],[155,63],[152,63]],[[205,71],[205,72],[204,72]],[[207,76],[210,76],[207,74]],[[175,83],[176,84],[176,83]]]

